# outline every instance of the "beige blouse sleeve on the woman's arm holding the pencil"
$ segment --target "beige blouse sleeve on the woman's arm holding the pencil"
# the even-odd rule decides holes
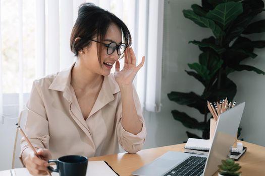
[[[38,87],[38,82],[34,81],[30,94],[29,101],[26,105],[27,120],[24,132],[29,141],[35,148],[48,148],[49,131],[48,120],[45,112],[42,95]],[[21,138],[21,152],[20,159],[22,161],[23,151],[30,147],[24,137]]]

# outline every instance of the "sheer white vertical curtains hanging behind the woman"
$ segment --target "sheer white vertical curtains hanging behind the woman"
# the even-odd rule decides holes
[[[24,70],[32,63],[28,63],[23,57],[25,47],[23,46],[23,28],[25,20],[23,0],[13,0],[18,3],[18,112],[24,108],[25,81]],[[32,80],[46,74],[58,72],[70,66],[75,58],[70,50],[70,35],[80,4],[85,2],[94,3],[101,8],[117,15],[128,26],[131,35],[137,62],[141,61],[143,55],[146,57],[143,68],[134,80],[142,107],[148,111],[160,111],[161,92],[161,65],[163,48],[163,5],[162,0],[38,0],[35,1],[35,64]],[[1,7],[0,11],[2,10]],[[0,29],[0,41],[1,38]],[[32,34],[34,35],[34,33]],[[0,48],[3,43],[0,42]],[[5,45],[5,43],[4,43]],[[3,115],[3,59],[0,49],[0,114]],[[121,63],[123,66],[123,63]],[[114,71],[114,70],[113,70]],[[15,74],[15,73],[14,73]],[[17,74],[17,73],[16,73]],[[31,80],[31,81],[32,81]],[[31,86],[31,85],[29,85]],[[5,93],[4,93],[5,94]],[[8,97],[9,95],[7,95]],[[7,114],[8,117],[8,114]]]

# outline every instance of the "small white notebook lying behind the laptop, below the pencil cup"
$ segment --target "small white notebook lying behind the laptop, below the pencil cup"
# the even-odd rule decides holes
[[[209,150],[210,146],[211,142],[209,139],[189,138],[184,148],[195,150]]]

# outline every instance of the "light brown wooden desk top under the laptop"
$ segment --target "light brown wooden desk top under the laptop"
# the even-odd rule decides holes
[[[265,147],[243,142],[247,147],[246,153],[237,161],[242,168],[242,175],[265,175]],[[170,145],[165,147],[145,149],[136,154],[119,153],[113,155],[105,155],[89,158],[90,161],[104,160],[107,161],[112,168],[123,175],[132,175],[131,173],[141,166],[151,162],[158,156],[163,155],[167,151],[184,151],[185,144]],[[215,173],[214,175],[218,175]]]

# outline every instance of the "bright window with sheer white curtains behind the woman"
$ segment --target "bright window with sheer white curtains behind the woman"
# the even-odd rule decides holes
[[[3,114],[3,107],[6,106],[17,106],[18,112],[21,111],[27,102],[24,94],[30,92],[35,78],[60,71],[74,62],[69,39],[78,7],[84,2],[84,0],[1,1],[0,114]],[[134,81],[140,102],[148,111],[159,111],[160,81],[157,78],[161,77],[163,42],[160,34],[163,31],[161,27],[163,15],[159,14],[163,13],[162,1],[87,2],[116,14],[128,26],[138,63],[143,55],[146,56],[145,65]],[[151,57],[150,61],[148,55]],[[122,68],[123,60],[120,63]],[[114,69],[115,66],[112,72]],[[146,82],[149,82],[148,85]],[[13,94],[18,95],[11,96]],[[158,98],[154,94],[157,94]],[[4,100],[3,95],[5,95]]]

